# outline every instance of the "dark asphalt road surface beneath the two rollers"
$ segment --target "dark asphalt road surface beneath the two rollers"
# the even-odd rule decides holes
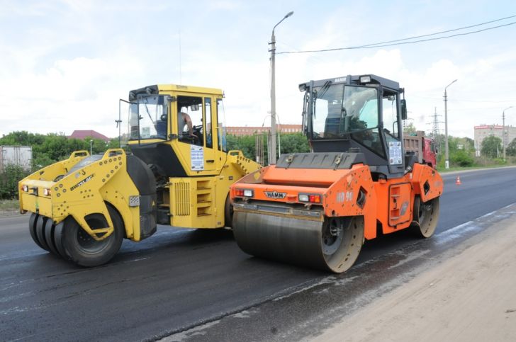
[[[344,275],[248,256],[232,232],[159,227],[111,263],[79,268],[35,246],[28,215],[0,219],[2,341],[271,341],[325,329],[429,258],[512,215],[516,169],[444,176],[432,239],[367,241]],[[493,211],[498,212],[493,215]],[[459,226],[460,227],[457,227]],[[423,257],[424,256],[424,257]]]

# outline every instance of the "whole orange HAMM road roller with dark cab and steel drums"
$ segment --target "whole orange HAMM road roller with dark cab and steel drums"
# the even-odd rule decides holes
[[[311,153],[283,154],[230,190],[233,231],[252,255],[342,273],[362,244],[437,226],[442,178],[403,147],[403,89],[376,75],[300,85]]]

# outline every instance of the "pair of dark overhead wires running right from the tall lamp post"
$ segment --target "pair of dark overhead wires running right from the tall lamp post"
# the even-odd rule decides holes
[[[513,17],[516,17],[516,16],[510,16],[510,17],[506,17],[506,18],[513,18]],[[496,21],[504,20],[506,18],[500,18],[500,19],[497,19]],[[486,23],[492,23],[492,22],[493,21],[486,22]],[[451,31],[456,31],[456,30],[464,30],[464,28],[471,28],[471,27],[475,27],[475,26],[478,26],[478,25],[485,25],[486,23],[480,23],[480,24],[476,24],[476,25],[465,26],[463,28],[456,28],[456,29],[453,29],[453,30],[442,31],[441,33],[451,32]],[[408,45],[408,44],[415,44],[417,42],[429,42],[431,40],[441,40],[441,39],[446,39],[446,38],[453,38],[453,37],[458,37],[458,36],[461,36],[461,35],[472,35],[474,33],[481,33],[483,31],[494,30],[495,28],[503,28],[505,26],[514,25],[514,24],[516,24],[516,21],[513,21],[512,23],[506,23],[506,24],[503,24],[503,25],[492,26],[492,27],[489,27],[489,28],[482,28],[481,30],[474,30],[474,31],[469,31],[469,32],[465,32],[465,33],[456,33],[454,35],[444,35],[442,37],[427,38],[427,39],[421,39],[421,40],[411,40],[410,42],[405,42],[403,40],[410,40],[410,39],[415,39],[415,38],[420,38],[420,37],[428,37],[430,35],[437,35],[437,34],[441,34],[441,33],[430,33],[428,35],[420,35],[420,36],[415,36],[415,37],[411,37],[411,38],[403,38],[403,39],[400,39],[400,40],[390,40],[390,41],[387,41],[387,42],[376,42],[376,43],[372,43],[372,44],[359,45],[359,46],[351,46],[351,47],[336,47],[336,48],[333,48],[333,49],[276,52],[276,55],[308,53],[308,52],[330,52],[330,51],[339,51],[339,50],[374,49],[376,47],[388,47],[388,46],[395,46],[395,45]]]

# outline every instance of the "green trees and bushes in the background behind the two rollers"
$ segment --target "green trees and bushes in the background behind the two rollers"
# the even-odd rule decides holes
[[[415,130],[415,127],[408,126],[406,133]],[[50,133],[41,135],[26,131],[11,132],[0,138],[0,146],[21,145],[31,146],[33,149],[32,168],[30,171],[21,169],[20,166],[6,166],[4,172],[0,173],[0,198],[16,198],[18,196],[18,181],[28,176],[31,172],[37,171],[56,161],[67,159],[72,152],[77,150],[90,149],[94,154],[105,152],[106,149],[118,147],[118,137],[104,142],[101,139],[86,137],[85,139],[69,139],[65,135]],[[256,159],[256,138],[254,135],[235,136],[228,135],[228,149],[240,149],[243,154],[252,160]],[[437,167],[444,169],[444,135],[434,137],[438,147]],[[264,160],[267,161],[267,137],[263,137]],[[281,154],[309,152],[308,140],[301,133],[281,134]],[[473,139],[448,137],[449,160],[451,167],[488,166],[491,164],[505,164],[516,162],[516,139],[507,145],[507,161],[502,159],[502,139],[498,137],[486,137],[481,146],[481,156],[476,156]],[[276,150],[277,152],[277,150]],[[278,154],[279,155],[279,154]]]

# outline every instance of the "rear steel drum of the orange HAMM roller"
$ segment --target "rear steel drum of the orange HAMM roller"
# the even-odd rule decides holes
[[[417,196],[414,199],[413,217],[412,226],[417,234],[424,238],[432,236],[439,220],[439,198],[433,198],[423,203]]]

